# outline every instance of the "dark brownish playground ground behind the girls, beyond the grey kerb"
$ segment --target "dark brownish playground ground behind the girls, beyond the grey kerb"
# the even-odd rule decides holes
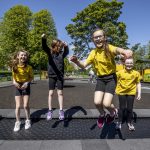
[[[150,87],[150,84],[142,84]],[[85,81],[73,80],[64,84],[64,108],[68,109],[73,106],[81,106],[84,109],[95,109],[93,102],[95,84]],[[145,90],[143,90],[145,91]],[[0,88],[0,109],[15,108],[14,100],[15,90],[13,86]],[[142,100],[134,102],[136,109],[150,109],[150,90],[142,92]],[[48,80],[37,81],[31,85],[30,108],[42,109],[47,108],[48,98]],[[113,103],[118,107],[118,97],[115,95]],[[58,108],[57,92],[54,92],[52,100],[53,108]]]

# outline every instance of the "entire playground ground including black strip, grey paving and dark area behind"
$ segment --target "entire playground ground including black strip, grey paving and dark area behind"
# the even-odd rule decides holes
[[[142,100],[135,101],[136,131],[130,132],[123,124],[115,130],[115,123],[96,125],[98,111],[93,103],[95,84],[87,79],[66,80],[64,86],[64,121],[58,119],[58,100],[53,99],[54,115],[46,121],[48,80],[38,80],[31,85],[32,128],[24,129],[24,112],[21,111],[21,130],[13,132],[15,122],[14,88],[11,82],[0,87],[0,150],[147,150],[150,149],[150,84],[142,83]],[[118,98],[114,96],[118,107]],[[117,118],[116,120],[117,121]]]

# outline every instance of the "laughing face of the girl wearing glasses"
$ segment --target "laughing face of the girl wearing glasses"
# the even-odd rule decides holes
[[[102,48],[106,43],[106,36],[103,30],[97,30],[93,33],[93,42],[97,48]]]

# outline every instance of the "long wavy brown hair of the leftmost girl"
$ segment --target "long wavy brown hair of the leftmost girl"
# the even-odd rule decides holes
[[[10,68],[12,68],[12,70],[13,70],[15,73],[17,73],[17,66],[18,66],[18,64],[19,64],[18,56],[19,56],[19,54],[20,54],[21,52],[24,52],[24,53],[26,53],[26,55],[27,55],[27,61],[24,62],[24,67],[26,67],[26,66],[27,66],[27,63],[28,63],[29,53],[28,53],[26,50],[22,49],[22,50],[16,52],[16,53],[12,56],[11,61],[10,61],[10,63],[9,63]]]

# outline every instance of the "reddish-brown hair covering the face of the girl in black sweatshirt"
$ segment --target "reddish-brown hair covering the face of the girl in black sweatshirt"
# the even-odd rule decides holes
[[[56,39],[52,41],[51,44],[52,53],[59,53],[63,49],[63,47],[64,43],[61,40]]]

